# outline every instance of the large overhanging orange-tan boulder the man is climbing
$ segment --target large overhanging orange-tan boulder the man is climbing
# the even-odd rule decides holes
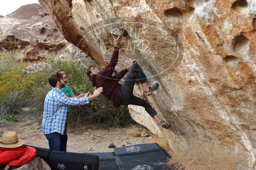
[[[159,129],[143,108],[129,106],[140,124],[170,147],[192,137],[220,140],[256,156],[256,2],[254,0],[39,0],[64,37],[101,66],[112,53],[111,33],[122,36],[117,69],[138,60],[159,83],[150,97],[171,130]]]

